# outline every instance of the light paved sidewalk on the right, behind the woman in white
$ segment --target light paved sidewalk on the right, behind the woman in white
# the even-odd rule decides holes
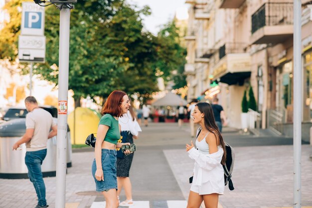
[[[271,208],[293,205],[293,146],[234,147],[234,191],[225,187],[223,208]],[[312,147],[302,146],[302,206],[312,208]],[[193,160],[184,149],[163,151],[187,199]]]

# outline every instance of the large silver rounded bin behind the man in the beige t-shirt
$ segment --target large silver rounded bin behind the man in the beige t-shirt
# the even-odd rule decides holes
[[[57,118],[53,118],[57,121]],[[13,119],[0,124],[0,178],[24,179],[27,176],[25,165],[25,144],[19,150],[12,151],[13,144],[25,133],[25,118]],[[47,155],[43,160],[41,170],[43,177],[56,176],[56,136],[48,139]],[[67,128],[67,167],[71,167],[72,148],[70,131]]]

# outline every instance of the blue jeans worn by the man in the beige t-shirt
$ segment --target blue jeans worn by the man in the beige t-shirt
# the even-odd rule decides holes
[[[26,152],[25,164],[28,169],[28,177],[36,190],[38,197],[38,205],[40,207],[46,206],[45,200],[45,185],[41,172],[42,161],[46,156],[46,149]]]

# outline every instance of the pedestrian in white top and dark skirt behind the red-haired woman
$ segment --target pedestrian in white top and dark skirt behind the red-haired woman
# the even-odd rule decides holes
[[[123,141],[133,144],[133,139],[139,138],[139,132],[142,131],[139,123],[137,122],[135,112],[132,106],[129,107],[128,113],[119,118]],[[121,151],[121,150],[119,150]],[[117,157],[117,196],[119,199],[122,188],[125,190],[126,200],[121,202],[120,206],[131,206],[134,204],[132,199],[132,186],[129,178],[129,171],[131,168],[134,153],[130,155],[119,154],[123,157]]]

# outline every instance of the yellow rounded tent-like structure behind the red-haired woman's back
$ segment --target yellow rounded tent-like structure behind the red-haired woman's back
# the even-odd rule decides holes
[[[75,111],[69,113],[67,121],[70,128],[71,143],[84,144],[89,134],[97,132],[100,118],[101,114],[85,107],[76,107]]]

